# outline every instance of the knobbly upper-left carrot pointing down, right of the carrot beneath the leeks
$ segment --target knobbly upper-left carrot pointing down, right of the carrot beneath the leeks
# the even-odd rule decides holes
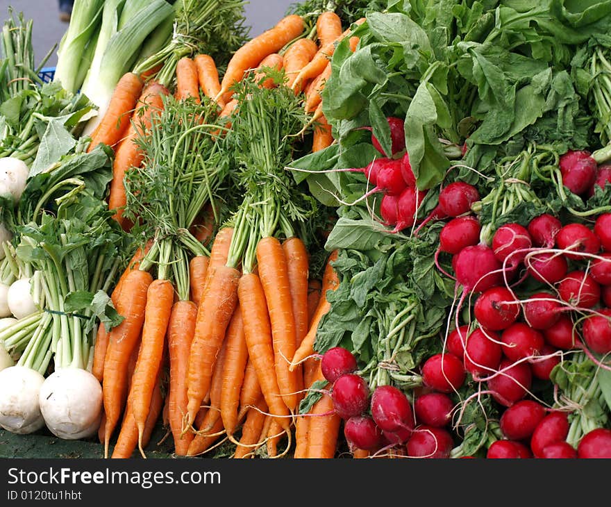
[[[130,167],[140,167],[144,153],[136,143],[139,135],[151,128],[153,113],[156,115],[163,108],[162,94],[167,94],[165,86],[151,81],[144,87],[136,108],[131,115],[131,123],[125,138],[119,143],[112,163],[112,181],[110,181],[110,194],[108,196],[108,209],[114,210],[113,218],[124,226],[123,206],[127,202],[125,186],[123,183],[125,173]]]

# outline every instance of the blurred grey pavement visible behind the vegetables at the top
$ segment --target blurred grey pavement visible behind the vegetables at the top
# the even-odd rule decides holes
[[[254,37],[262,31],[271,28],[296,0],[250,0],[246,3],[246,24],[251,26],[250,35]],[[12,6],[15,13],[24,13],[26,19],[33,19],[33,44],[36,63],[60,41],[67,28],[59,18],[58,0],[0,0],[0,16],[2,22],[8,17],[8,7]],[[47,67],[55,67],[57,54],[47,60]]]

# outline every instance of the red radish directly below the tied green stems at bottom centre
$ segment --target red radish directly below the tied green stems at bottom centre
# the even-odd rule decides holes
[[[371,395],[371,417],[383,431],[413,429],[414,414],[410,400],[392,385],[378,385]]]

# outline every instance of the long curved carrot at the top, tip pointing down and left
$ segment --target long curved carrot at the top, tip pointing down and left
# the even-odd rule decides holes
[[[252,69],[267,55],[277,53],[290,41],[298,38],[304,28],[303,18],[291,14],[283,17],[274,28],[246,42],[229,60],[217,97],[223,97],[225,101],[231,100],[229,88],[242,79],[246,70]]]

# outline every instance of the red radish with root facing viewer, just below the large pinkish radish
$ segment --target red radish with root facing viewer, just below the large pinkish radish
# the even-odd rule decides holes
[[[492,287],[482,292],[474,305],[475,318],[490,331],[508,328],[516,321],[519,313],[519,304],[505,287]]]

